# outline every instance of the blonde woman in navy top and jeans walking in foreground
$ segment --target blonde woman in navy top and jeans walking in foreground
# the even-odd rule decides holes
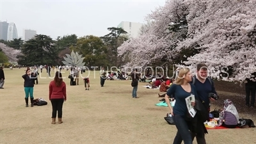
[[[164,97],[178,130],[173,144],[180,144],[182,140],[184,141],[184,144],[192,144],[193,141],[191,132],[189,131],[191,130],[189,129],[191,126],[189,123],[191,122],[186,120],[188,109],[185,101],[186,97],[189,97],[191,94],[197,97],[195,86],[189,83],[191,80],[191,72],[189,68],[181,68],[177,80],[172,84]],[[174,95],[176,100],[173,108],[169,100],[171,95]],[[191,102],[191,105],[195,106],[195,102]]]

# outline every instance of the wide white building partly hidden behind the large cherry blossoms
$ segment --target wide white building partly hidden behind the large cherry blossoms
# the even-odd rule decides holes
[[[126,22],[122,21],[118,24],[117,28],[123,28],[129,37],[136,37],[140,33],[140,28],[143,24],[140,22]]]

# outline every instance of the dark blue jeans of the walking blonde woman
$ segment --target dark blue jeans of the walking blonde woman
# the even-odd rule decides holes
[[[178,129],[173,144],[180,144],[182,140],[184,144],[192,144],[191,132],[188,129],[188,124],[185,119],[180,115],[174,115],[173,121]]]

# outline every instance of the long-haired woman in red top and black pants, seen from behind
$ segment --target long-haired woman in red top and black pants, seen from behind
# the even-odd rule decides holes
[[[55,73],[54,80],[49,84],[49,100],[52,103],[52,124],[56,124],[56,115],[58,111],[58,123],[62,122],[62,106],[67,100],[66,84],[62,79],[60,72]]]

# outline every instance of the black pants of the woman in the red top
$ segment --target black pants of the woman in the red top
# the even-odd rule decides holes
[[[52,103],[52,118],[56,118],[58,111],[58,118],[62,118],[62,106],[64,99],[51,99]]]

